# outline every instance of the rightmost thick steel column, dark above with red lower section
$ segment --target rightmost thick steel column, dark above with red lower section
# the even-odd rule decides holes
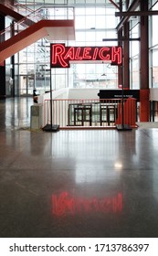
[[[148,1],[141,1],[141,11],[148,11]],[[140,121],[148,122],[150,116],[149,104],[149,46],[148,46],[148,16],[141,16],[141,73],[140,73]]]

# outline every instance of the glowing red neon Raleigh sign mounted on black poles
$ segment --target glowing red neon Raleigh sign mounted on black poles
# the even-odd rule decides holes
[[[107,61],[121,65],[121,47],[66,47],[64,44],[50,45],[51,68],[69,68],[70,61]]]

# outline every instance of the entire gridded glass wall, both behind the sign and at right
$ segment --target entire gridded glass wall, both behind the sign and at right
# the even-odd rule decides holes
[[[23,5],[23,9],[21,7]],[[24,8],[25,6],[25,8]],[[67,18],[68,7],[75,9],[76,40],[63,42],[67,46],[111,46],[117,41],[103,42],[103,38],[117,38],[115,27],[119,22],[115,17],[118,11],[110,1],[106,0],[17,0],[18,12],[27,16],[36,12],[35,16],[56,19]],[[158,1],[149,1],[149,9],[157,10]],[[6,17],[6,27],[11,21]],[[157,16],[149,16],[149,65],[150,87],[158,88],[158,39]],[[15,27],[17,33],[21,27]],[[24,28],[23,28],[24,29]],[[130,20],[130,37],[140,37],[140,18],[133,16]],[[6,59],[6,95],[32,95],[34,88],[39,93],[49,90],[50,83],[50,43],[42,38],[35,44],[23,49],[15,55],[15,80],[11,78],[13,63]],[[140,89],[140,42],[130,42],[130,74],[131,88]],[[117,88],[118,68],[110,64],[73,64],[69,69],[52,69],[52,88]],[[14,85],[14,88],[13,88]]]

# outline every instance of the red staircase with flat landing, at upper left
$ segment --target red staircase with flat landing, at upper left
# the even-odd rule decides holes
[[[10,16],[16,21],[16,35],[12,36],[13,27],[6,27],[0,32],[0,63],[13,56],[18,51],[35,43],[42,37],[47,40],[74,40],[75,28],[74,19],[43,19],[40,16],[40,9],[27,16],[18,14],[15,10],[6,5],[0,4],[0,13]],[[37,20],[37,21],[36,21]],[[10,36],[10,37],[9,37]]]

